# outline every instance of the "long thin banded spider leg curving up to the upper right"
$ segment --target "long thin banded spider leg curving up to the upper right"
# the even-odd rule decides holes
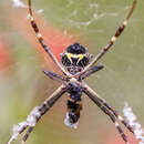
[[[109,41],[109,43],[107,43],[105,47],[102,48],[102,50],[101,50],[100,53],[93,59],[93,61],[92,61],[88,66],[85,66],[85,69],[84,69],[82,72],[75,74],[75,76],[82,75],[83,73],[85,73],[86,71],[89,71],[89,69],[91,69],[91,66],[92,66],[93,64],[95,64],[95,63],[106,53],[106,51],[113,45],[113,43],[117,40],[117,38],[119,38],[119,37],[121,35],[121,33],[123,32],[124,28],[127,25],[128,19],[130,19],[130,17],[131,17],[132,13],[133,13],[133,10],[134,10],[134,8],[135,8],[135,6],[136,6],[136,2],[137,2],[137,0],[134,0],[133,6],[132,6],[132,8],[131,8],[131,10],[130,10],[130,12],[128,12],[126,19],[124,20],[124,22],[122,23],[122,25],[117,29],[115,35],[112,37],[111,40]]]

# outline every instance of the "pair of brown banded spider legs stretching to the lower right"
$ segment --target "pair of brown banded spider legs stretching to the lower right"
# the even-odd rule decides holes
[[[83,92],[112,120],[112,122],[115,124],[115,127],[117,128],[119,133],[121,134],[123,141],[125,144],[128,144],[127,137],[124,134],[122,127],[120,126],[117,120],[125,125],[125,127],[134,134],[133,127],[124,121],[124,119],[117,114],[115,110],[113,110],[112,106],[107,104],[105,100],[100,97],[96,92],[94,92],[89,85],[83,84]],[[117,120],[116,120],[117,119]]]

